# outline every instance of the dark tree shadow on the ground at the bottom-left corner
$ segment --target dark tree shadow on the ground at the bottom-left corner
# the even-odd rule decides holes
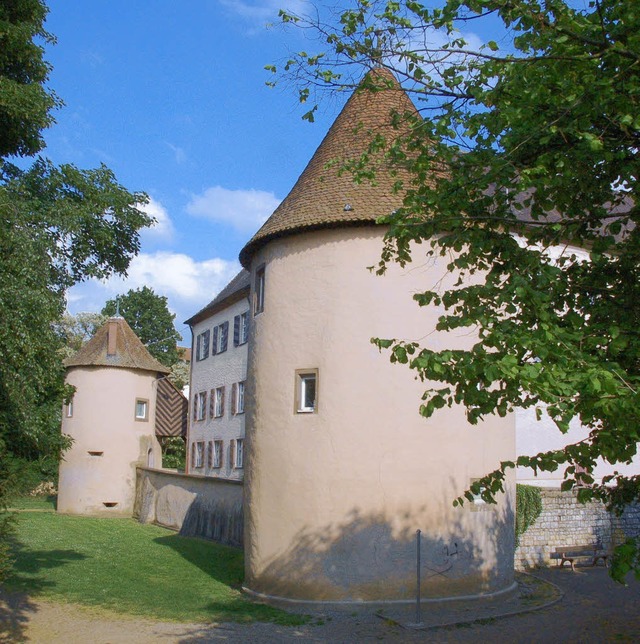
[[[75,550],[29,550],[16,540],[11,550],[12,572],[0,588],[0,642],[23,641],[29,614],[38,610],[30,595],[55,585],[38,577],[40,571],[86,559]]]

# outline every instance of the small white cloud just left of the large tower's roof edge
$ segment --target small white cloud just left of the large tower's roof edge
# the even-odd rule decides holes
[[[263,190],[228,190],[221,186],[207,188],[193,195],[187,204],[190,215],[231,224],[241,232],[254,232],[278,207],[280,200]]]

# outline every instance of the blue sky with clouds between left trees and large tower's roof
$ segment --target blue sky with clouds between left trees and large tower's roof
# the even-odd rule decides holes
[[[291,189],[335,118],[313,125],[295,90],[270,89],[264,66],[300,49],[277,24],[301,0],[49,0],[49,85],[64,100],[46,155],[84,168],[105,163],[151,197],[158,225],[126,280],[68,294],[72,313],[148,285],[165,295],[176,327],[239,270],[238,252]]]

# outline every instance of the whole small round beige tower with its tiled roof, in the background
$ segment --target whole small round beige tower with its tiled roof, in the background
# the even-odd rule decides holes
[[[62,433],[73,442],[60,463],[58,511],[131,516],[136,466],[161,466],[155,403],[158,378],[169,370],[119,317],[65,366],[76,391],[62,414]]]

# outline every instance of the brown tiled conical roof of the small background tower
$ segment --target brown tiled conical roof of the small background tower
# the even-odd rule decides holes
[[[120,367],[170,373],[158,362],[124,318],[110,318],[78,353],[64,361],[65,367]]]

